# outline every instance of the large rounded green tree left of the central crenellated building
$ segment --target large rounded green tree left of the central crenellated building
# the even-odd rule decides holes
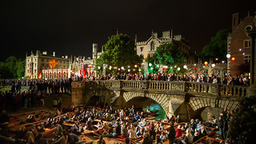
[[[98,66],[103,66],[106,64],[107,66],[112,66],[112,70],[106,69],[108,73],[116,74],[124,66],[125,70],[120,70],[122,72],[126,72],[128,70],[128,66],[132,68],[137,65],[140,66],[142,63],[142,55],[138,56],[136,51],[134,50],[134,42],[130,40],[130,37],[127,34],[116,34],[112,35],[106,44],[104,45],[105,51],[98,58],[96,68]],[[117,67],[117,69],[114,69]],[[99,73],[102,73],[102,69],[98,70]]]

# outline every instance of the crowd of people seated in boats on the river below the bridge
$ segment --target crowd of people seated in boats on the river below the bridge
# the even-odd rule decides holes
[[[166,141],[190,144],[208,134],[206,127],[218,128],[222,135],[220,139],[227,138],[228,125],[233,120],[232,114],[233,111],[228,112],[225,109],[218,120],[213,117],[209,122],[191,119],[190,122],[182,123],[181,118],[174,117],[174,115],[162,121],[150,121],[148,119],[150,110],[137,111],[134,106],[122,110],[114,110],[111,106],[107,106],[106,109],[97,106],[71,106],[61,111],[57,110],[56,113],[49,112],[43,115],[46,120],[32,128],[27,129],[22,125],[15,138],[18,142],[28,144],[44,144],[47,141],[72,144],[78,142],[79,136],[86,133],[86,130],[94,130],[94,134],[99,137],[98,143],[106,143],[103,138],[107,137],[122,138],[128,144],[134,143],[136,138],[142,139],[143,144],[162,144]],[[2,117],[3,114],[0,120]],[[35,122],[34,119],[33,115],[29,115],[27,122]],[[66,125],[65,122],[70,125]],[[57,127],[54,138],[47,138],[43,135],[46,129],[54,127]]]

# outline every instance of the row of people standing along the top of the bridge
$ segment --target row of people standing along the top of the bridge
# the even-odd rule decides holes
[[[150,81],[185,81],[185,82],[208,82],[208,83],[222,83],[228,85],[250,85],[248,76],[231,75],[221,78],[220,74],[148,74],[145,77],[143,74],[108,74],[106,76],[98,75],[83,77],[74,77],[74,81],[94,81],[94,80],[150,80]]]

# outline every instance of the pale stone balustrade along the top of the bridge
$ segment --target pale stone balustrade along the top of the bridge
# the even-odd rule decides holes
[[[72,88],[78,88],[82,82],[72,83]],[[80,85],[79,85],[80,84]],[[201,95],[216,95],[222,97],[247,97],[249,96],[249,86],[232,86],[206,82],[166,82],[166,81],[93,81],[86,82],[86,85],[101,86],[112,90],[148,90],[158,92],[173,92],[173,93],[190,93]]]

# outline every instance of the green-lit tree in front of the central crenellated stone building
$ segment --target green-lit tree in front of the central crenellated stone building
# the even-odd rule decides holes
[[[151,63],[153,70],[148,69],[149,73],[158,72],[159,66],[168,66],[165,73],[176,73],[176,74],[184,74],[186,70],[183,69],[183,60],[185,58],[185,54],[182,53],[178,45],[174,43],[165,43],[158,46],[155,54],[148,55],[146,58],[146,62]],[[181,70],[177,70],[180,67]]]

